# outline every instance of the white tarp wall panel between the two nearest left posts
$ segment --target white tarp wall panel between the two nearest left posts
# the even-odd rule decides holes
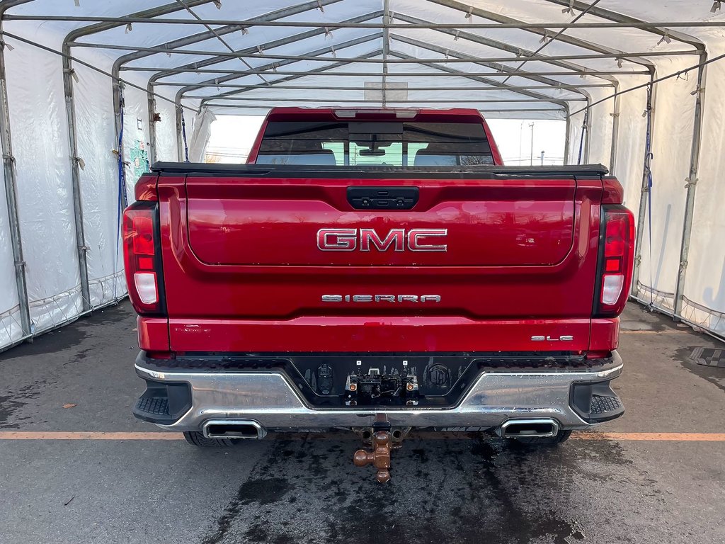
[[[61,60],[28,46],[5,59],[30,318],[39,332],[83,308]]]

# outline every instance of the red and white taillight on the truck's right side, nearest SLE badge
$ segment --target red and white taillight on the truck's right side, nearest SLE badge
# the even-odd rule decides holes
[[[618,316],[627,302],[634,263],[634,215],[620,205],[602,206],[596,316]]]

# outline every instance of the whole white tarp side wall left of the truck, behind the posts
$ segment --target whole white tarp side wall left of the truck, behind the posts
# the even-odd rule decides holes
[[[27,25],[23,25],[27,26]],[[17,31],[16,29],[13,29]],[[38,33],[33,38],[59,49],[59,36]],[[10,41],[10,40],[9,40]],[[112,59],[84,51],[86,62],[110,71]],[[76,249],[70,146],[62,79],[57,54],[15,42],[6,49],[9,116],[16,159],[17,200],[25,257],[31,328],[39,334],[78,317],[83,311]],[[117,243],[118,170],[115,111],[111,79],[75,63],[75,122],[78,134],[80,199],[83,208],[91,308],[125,296],[123,248]],[[149,144],[146,92],[128,87],[124,161],[131,162],[136,142]],[[157,125],[159,152],[175,160],[173,104],[160,101]],[[138,119],[143,128],[138,129]],[[137,173],[125,167],[128,200],[133,202]],[[2,172],[0,169],[0,178]],[[4,183],[4,178],[3,178]],[[14,260],[4,188],[0,194],[0,350],[22,336]]]

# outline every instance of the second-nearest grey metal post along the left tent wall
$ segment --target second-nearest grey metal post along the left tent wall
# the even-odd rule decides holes
[[[78,133],[75,128],[75,98],[73,96],[73,75],[70,60],[70,46],[63,44],[63,90],[65,94],[65,111],[68,123],[68,143],[70,144],[70,175],[73,194],[73,218],[75,219],[75,242],[78,247],[78,268],[80,269],[80,295],[83,299],[83,312],[90,311],[91,291],[88,286],[88,260],[86,259],[86,235],[83,229],[83,206],[80,198],[80,167],[78,157]]]

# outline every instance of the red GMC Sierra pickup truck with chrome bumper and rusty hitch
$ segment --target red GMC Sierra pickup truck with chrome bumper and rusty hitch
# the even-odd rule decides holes
[[[476,110],[277,108],[247,165],[125,210],[134,413],[199,446],[352,429],[529,443],[621,416],[634,221],[601,165],[505,167]]]

